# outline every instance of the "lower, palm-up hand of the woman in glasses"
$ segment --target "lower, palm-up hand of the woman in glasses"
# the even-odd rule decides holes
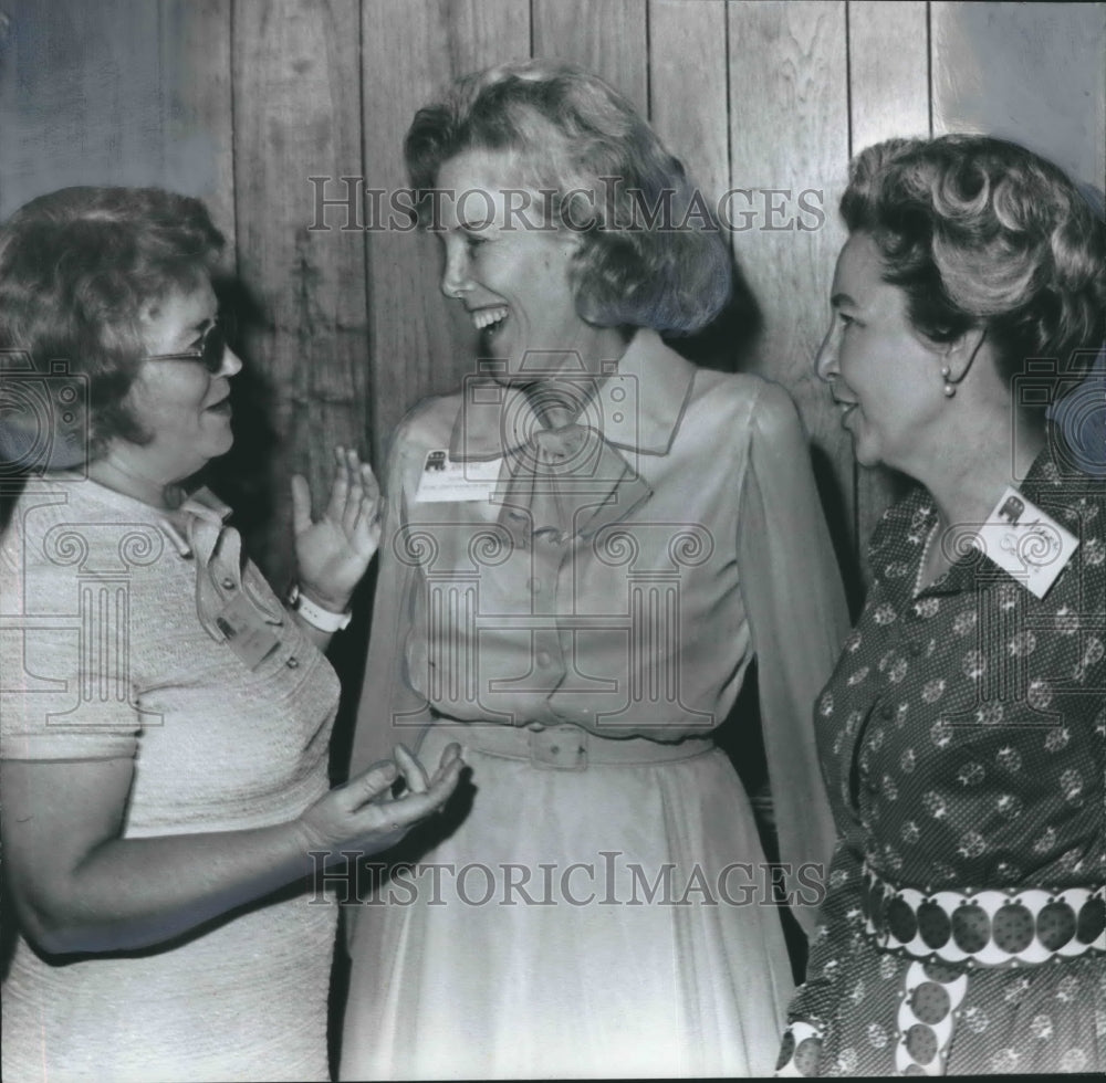
[[[436,812],[457,788],[465,761],[461,746],[449,745],[432,778],[403,745],[395,763],[373,767],[345,786],[320,798],[299,819],[307,852],[327,852],[328,860],[343,853],[376,853],[394,847],[419,820]],[[392,797],[393,784],[403,776],[406,788]]]

